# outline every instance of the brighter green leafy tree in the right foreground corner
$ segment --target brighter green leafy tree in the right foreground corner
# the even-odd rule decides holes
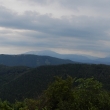
[[[93,78],[78,79],[74,91],[76,110],[108,110],[110,96],[102,89],[102,84]],[[80,109],[79,109],[80,108]]]

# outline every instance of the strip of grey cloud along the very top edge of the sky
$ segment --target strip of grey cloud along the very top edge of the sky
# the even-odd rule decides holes
[[[19,1],[19,0],[18,0]],[[109,4],[110,1],[109,0],[23,0],[22,2],[29,2],[29,3],[39,3],[39,4],[44,4],[44,5],[48,5],[48,4],[54,4],[54,3],[58,3],[61,6],[65,7],[65,8],[79,8],[79,7],[92,7],[92,8],[109,8]]]

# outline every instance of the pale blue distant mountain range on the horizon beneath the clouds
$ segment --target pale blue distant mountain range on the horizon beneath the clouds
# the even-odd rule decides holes
[[[77,54],[59,54],[54,51],[44,50],[44,51],[30,51],[25,54],[34,54],[42,56],[52,56],[61,59],[69,59],[75,62],[90,63],[90,64],[107,64],[110,65],[110,57],[99,58],[89,55],[77,55]]]

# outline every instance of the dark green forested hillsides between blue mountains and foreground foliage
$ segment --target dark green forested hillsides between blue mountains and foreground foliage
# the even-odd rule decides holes
[[[0,98],[9,101],[37,98],[53,82],[54,76],[94,77],[104,84],[105,89],[110,90],[108,65],[65,64],[38,68],[0,66],[0,71]]]

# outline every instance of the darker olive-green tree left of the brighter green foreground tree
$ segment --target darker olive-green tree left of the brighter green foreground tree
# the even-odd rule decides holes
[[[62,109],[70,110],[71,101],[73,98],[73,86],[74,79],[68,77],[63,80],[59,77],[56,78],[55,82],[52,83],[45,91],[47,97],[47,107],[49,110]]]

